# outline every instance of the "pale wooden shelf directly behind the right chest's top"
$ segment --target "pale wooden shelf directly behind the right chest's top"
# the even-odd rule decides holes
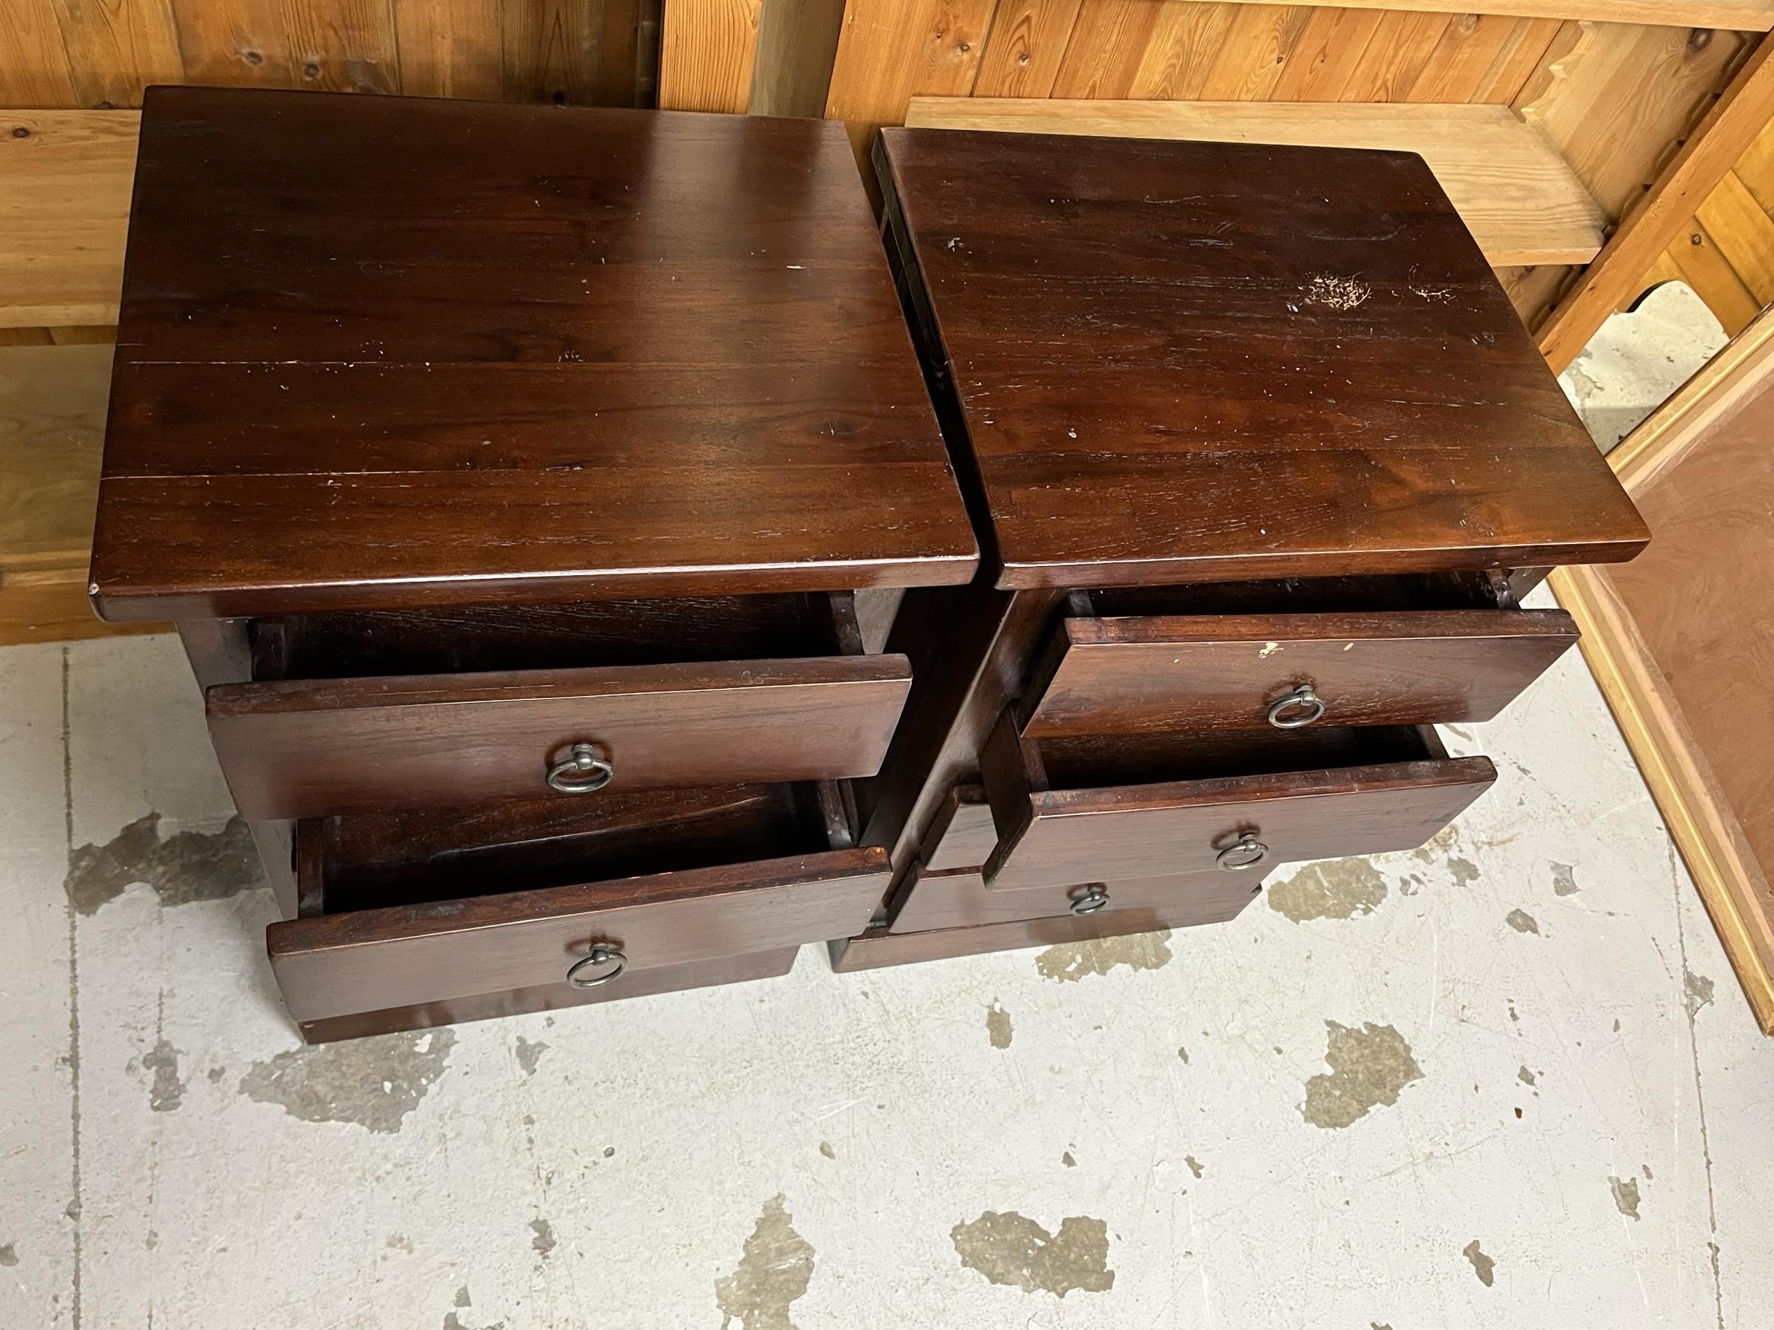
[[[908,126],[1419,153],[1494,268],[1590,262],[1607,216],[1508,106],[912,98]]]

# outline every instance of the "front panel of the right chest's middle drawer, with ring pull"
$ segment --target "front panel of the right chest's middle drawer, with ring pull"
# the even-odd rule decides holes
[[[1025,794],[985,878],[993,890],[1077,881],[1222,872],[1228,878],[1304,858],[1412,849],[1453,821],[1497,778],[1487,757],[1453,757],[1329,771],[1176,780]],[[1263,855],[1233,851],[1251,835]]]

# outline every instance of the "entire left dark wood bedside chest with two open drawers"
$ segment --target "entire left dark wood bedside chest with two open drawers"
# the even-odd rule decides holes
[[[147,94],[90,592],[179,622],[307,1039],[862,929],[867,601],[976,564],[841,124]]]

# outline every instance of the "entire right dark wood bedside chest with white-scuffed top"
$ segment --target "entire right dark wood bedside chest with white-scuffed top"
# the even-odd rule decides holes
[[[1423,161],[885,129],[885,234],[981,536],[907,596],[841,970],[1229,919],[1419,846],[1648,534]]]

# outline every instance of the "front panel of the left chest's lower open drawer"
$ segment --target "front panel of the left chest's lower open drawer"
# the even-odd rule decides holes
[[[857,933],[887,880],[883,849],[841,849],[294,919],[271,924],[266,947],[298,1021],[568,988],[568,970],[598,943],[626,958],[605,986],[616,997],[628,974]]]

